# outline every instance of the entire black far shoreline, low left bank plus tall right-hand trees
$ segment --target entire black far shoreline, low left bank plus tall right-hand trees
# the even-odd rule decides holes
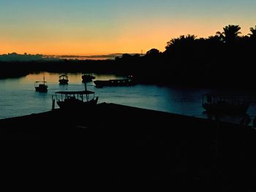
[[[32,72],[94,72],[132,74],[136,81],[159,85],[253,88],[255,83],[256,26],[240,36],[240,27],[225,26],[215,36],[188,34],[171,39],[166,50],[145,55],[123,54],[115,60],[56,60],[0,62],[0,77]]]

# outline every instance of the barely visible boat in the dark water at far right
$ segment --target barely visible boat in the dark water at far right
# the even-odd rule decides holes
[[[203,94],[202,106],[206,112],[215,114],[246,114],[250,99],[234,94]]]

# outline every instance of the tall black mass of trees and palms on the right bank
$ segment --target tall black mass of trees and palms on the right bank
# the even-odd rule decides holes
[[[255,77],[256,26],[241,36],[241,27],[228,25],[214,36],[181,35],[167,42],[164,52],[116,58],[120,71],[145,82],[169,85],[251,86]]]

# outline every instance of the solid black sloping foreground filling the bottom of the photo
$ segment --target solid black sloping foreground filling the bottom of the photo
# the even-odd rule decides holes
[[[255,190],[255,130],[230,123],[99,104],[90,112],[0,120],[0,139],[10,177],[26,172],[99,185],[164,181],[173,191]]]

